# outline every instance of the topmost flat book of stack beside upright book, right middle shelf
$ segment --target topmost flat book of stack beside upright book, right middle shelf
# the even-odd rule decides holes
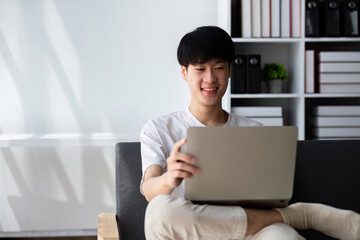
[[[360,51],[321,51],[319,62],[360,62]]]

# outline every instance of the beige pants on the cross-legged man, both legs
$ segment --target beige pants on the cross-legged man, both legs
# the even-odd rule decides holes
[[[293,228],[281,223],[248,236],[245,236],[246,228],[247,217],[241,207],[196,205],[170,195],[155,197],[145,215],[147,240],[304,240]]]

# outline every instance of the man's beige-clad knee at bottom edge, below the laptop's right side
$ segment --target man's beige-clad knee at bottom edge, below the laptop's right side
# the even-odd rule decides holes
[[[259,240],[305,240],[295,229],[282,223],[271,224],[260,230],[255,236],[254,239]]]

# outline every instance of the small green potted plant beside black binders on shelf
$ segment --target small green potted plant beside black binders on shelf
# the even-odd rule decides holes
[[[263,80],[267,82],[270,93],[281,93],[282,82],[286,81],[288,76],[283,64],[265,63],[263,69]]]

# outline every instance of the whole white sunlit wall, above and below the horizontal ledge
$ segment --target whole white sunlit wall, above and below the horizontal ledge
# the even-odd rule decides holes
[[[178,42],[216,23],[216,0],[0,0],[0,231],[96,228],[115,207],[113,146],[7,136],[138,140],[148,119],[187,106]]]

